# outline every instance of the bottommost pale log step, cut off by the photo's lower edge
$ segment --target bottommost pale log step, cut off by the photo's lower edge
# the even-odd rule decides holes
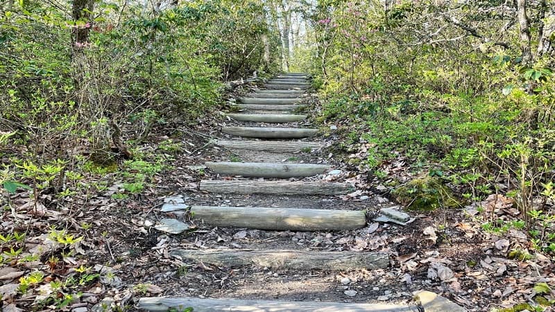
[[[152,312],[418,312],[418,306],[393,304],[352,304],[317,301],[268,301],[237,299],[200,299],[197,297],[142,297],[139,309]]]

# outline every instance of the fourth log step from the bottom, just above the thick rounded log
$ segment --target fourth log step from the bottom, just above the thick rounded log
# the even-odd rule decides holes
[[[236,194],[343,195],[355,189],[351,184],[336,182],[202,180],[200,191]]]

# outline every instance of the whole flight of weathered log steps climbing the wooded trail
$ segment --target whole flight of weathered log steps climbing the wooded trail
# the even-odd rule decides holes
[[[230,150],[291,153],[321,148],[323,142],[310,140],[317,129],[289,127],[307,119],[295,111],[304,107],[309,77],[304,73],[284,73],[268,80],[262,89],[239,98],[240,113],[227,116],[234,121],[277,124],[277,127],[223,127],[222,132],[238,139],[221,139],[218,146]],[[239,139],[240,138],[240,139]],[[341,195],[352,185],[320,179],[290,181],[291,177],[313,177],[331,171],[327,164],[288,162],[207,162],[207,168],[221,176],[251,177],[245,180],[203,180],[200,190],[211,193],[262,193],[272,195]],[[262,180],[259,178],[278,179]],[[366,211],[300,209],[297,207],[193,206],[191,215],[207,225],[265,230],[342,231],[366,226]],[[260,266],[291,272],[311,270],[373,270],[389,266],[389,256],[380,252],[326,252],[311,250],[173,250],[170,254],[196,263],[216,266]],[[393,304],[348,304],[341,302],[283,302],[264,300],[200,299],[196,297],[145,297],[139,307],[148,311],[422,311],[418,306]],[[426,310],[432,311],[432,310]],[[439,311],[439,310],[434,310]],[[453,309],[453,311],[460,311]]]

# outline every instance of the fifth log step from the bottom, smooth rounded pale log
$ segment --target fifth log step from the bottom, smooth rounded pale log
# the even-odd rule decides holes
[[[262,162],[205,162],[205,166],[221,175],[244,177],[310,177],[325,173],[331,167],[322,164],[282,164]]]

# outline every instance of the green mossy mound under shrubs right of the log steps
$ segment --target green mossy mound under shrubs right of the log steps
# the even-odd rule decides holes
[[[393,196],[410,210],[431,211],[460,205],[452,191],[438,177],[420,177],[411,180],[395,189]]]

